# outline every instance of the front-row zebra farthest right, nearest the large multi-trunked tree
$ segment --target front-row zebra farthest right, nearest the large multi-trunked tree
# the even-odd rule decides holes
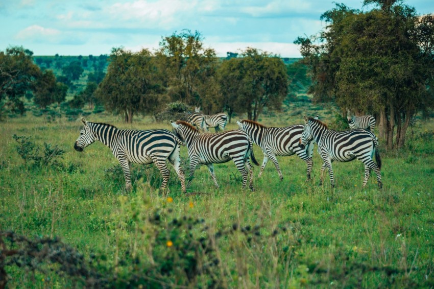
[[[303,132],[300,138],[300,146],[305,147],[314,139],[318,144],[318,152],[324,161],[321,167],[321,182],[325,167],[328,168],[330,175],[331,187],[334,187],[333,171],[331,168],[332,161],[347,162],[357,158],[365,164],[365,179],[363,188],[368,182],[371,170],[377,175],[378,186],[381,188],[381,158],[378,151],[378,141],[375,135],[364,129],[355,129],[348,131],[334,131],[327,128],[327,125],[312,117],[304,116]],[[375,153],[375,163],[372,158]]]

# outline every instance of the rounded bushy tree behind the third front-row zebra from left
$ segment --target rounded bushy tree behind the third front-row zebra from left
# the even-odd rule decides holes
[[[219,79],[223,99],[228,112],[237,107],[256,121],[264,107],[281,108],[288,87],[286,67],[279,57],[250,47],[240,56],[222,64]]]

